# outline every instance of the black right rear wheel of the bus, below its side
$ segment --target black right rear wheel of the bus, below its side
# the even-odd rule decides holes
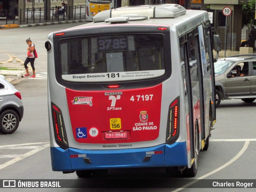
[[[182,175],[185,177],[194,177],[196,176],[197,173],[197,167],[198,167],[198,154],[199,154],[199,139],[198,139],[198,125],[196,125],[196,130],[195,130],[195,160],[191,166],[191,168],[186,168],[183,172]]]

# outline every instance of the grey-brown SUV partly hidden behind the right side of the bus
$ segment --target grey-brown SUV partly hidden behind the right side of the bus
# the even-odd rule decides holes
[[[233,55],[214,63],[216,106],[224,99],[256,99],[256,54]]]

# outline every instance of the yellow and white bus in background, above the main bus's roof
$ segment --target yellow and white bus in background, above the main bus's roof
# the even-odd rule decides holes
[[[99,12],[114,9],[114,0],[86,0],[86,21],[92,21],[92,18]]]

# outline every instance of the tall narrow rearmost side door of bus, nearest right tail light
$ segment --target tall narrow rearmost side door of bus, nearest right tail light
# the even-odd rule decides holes
[[[184,44],[185,48],[185,71],[186,71],[186,89],[187,89],[187,105],[189,128],[187,127],[188,139],[190,142],[190,155],[191,165],[193,163],[197,166],[198,152],[200,148],[199,134],[200,134],[200,85],[199,85],[199,74],[198,74],[198,62],[199,55],[196,49],[197,37],[194,36],[194,32],[187,34],[187,41]],[[201,100],[201,101],[200,101]],[[187,126],[188,126],[187,125]]]

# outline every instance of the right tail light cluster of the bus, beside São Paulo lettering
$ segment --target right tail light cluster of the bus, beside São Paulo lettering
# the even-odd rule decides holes
[[[174,143],[174,140],[179,136],[179,121],[180,121],[180,102],[179,97],[176,98],[169,107],[166,143]]]

